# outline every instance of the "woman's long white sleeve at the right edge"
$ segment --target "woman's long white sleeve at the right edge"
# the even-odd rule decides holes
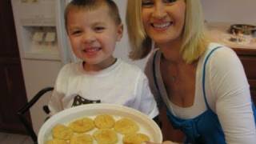
[[[224,47],[209,63],[210,90],[226,143],[256,143],[250,86],[238,56]]]

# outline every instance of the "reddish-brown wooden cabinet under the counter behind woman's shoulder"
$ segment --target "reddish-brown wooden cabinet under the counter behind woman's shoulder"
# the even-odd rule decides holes
[[[255,49],[233,48],[238,54],[250,84],[250,94],[256,104],[256,47]]]

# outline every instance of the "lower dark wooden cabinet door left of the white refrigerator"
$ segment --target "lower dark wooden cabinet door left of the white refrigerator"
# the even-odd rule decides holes
[[[26,92],[19,64],[0,64],[0,129],[24,133],[17,111],[26,103]]]

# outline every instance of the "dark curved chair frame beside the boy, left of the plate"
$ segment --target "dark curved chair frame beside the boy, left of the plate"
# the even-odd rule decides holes
[[[30,135],[30,137],[32,138],[32,140],[35,144],[38,143],[38,136],[37,136],[37,134],[34,133],[33,126],[31,125],[30,122],[27,121],[24,114],[26,114],[26,112],[28,112],[30,110],[30,108],[32,106],[34,106],[34,104],[36,102],[38,102],[39,98],[42,98],[42,96],[44,94],[46,94],[48,91],[52,91],[52,90],[54,90],[53,87],[46,87],[46,88],[38,91],[38,93],[35,94],[34,97],[29,102],[26,102],[26,104],[24,106],[22,106],[22,108],[20,110],[18,110],[18,113],[17,113],[19,120],[25,126],[26,132]],[[43,106],[42,109],[46,112],[46,114],[50,113],[48,106]]]

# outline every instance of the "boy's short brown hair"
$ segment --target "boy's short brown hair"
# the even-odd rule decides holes
[[[64,19],[65,19],[65,26],[67,27],[67,15],[69,14],[70,10],[77,9],[77,10],[95,10],[98,7],[106,4],[109,8],[110,17],[113,18],[114,22],[118,25],[122,23],[120,18],[118,6],[112,0],[72,0],[65,9]],[[66,29],[67,30],[67,29]]]

